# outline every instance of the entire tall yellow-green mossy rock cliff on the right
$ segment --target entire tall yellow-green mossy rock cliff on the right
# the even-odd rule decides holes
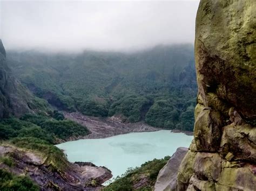
[[[256,1],[201,0],[195,59],[194,140],[169,190],[255,190]]]

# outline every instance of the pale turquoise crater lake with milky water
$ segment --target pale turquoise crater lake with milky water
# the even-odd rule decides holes
[[[113,178],[129,167],[142,165],[154,158],[172,155],[180,146],[188,147],[193,136],[167,130],[118,135],[104,139],[81,139],[57,147],[64,150],[71,162],[92,162],[112,171]]]

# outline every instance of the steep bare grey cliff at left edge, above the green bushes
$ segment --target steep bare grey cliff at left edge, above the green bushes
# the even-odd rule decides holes
[[[6,61],[6,53],[0,39],[0,118],[21,116],[27,112],[46,108],[46,103],[33,96],[12,75]]]

